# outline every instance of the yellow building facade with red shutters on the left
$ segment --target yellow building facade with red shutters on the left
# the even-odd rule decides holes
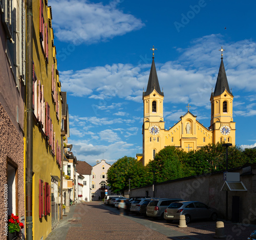
[[[33,1],[33,239],[46,239],[62,211],[60,87],[51,7]]]

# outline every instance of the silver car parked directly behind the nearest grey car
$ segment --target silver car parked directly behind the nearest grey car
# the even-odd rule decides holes
[[[148,217],[163,218],[163,213],[166,207],[172,202],[184,201],[180,198],[159,198],[153,199],[146,207],[146,215]]]

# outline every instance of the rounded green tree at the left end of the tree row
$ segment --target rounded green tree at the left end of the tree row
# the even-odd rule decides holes
[[[133,157],[124,156],[118,159],[109,168],[107,175],[113,193],[123,193],[124,190],[129,189],[129,179],[131,179],[131,188],[150,183],[147,168]]]

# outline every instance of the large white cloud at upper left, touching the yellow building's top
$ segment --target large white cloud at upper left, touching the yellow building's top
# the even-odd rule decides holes
[[[138,30],[140,19],[125,14],[112,2],[109,5],[87,0],[51,0],[53,29],[60,41],[94,43]]]

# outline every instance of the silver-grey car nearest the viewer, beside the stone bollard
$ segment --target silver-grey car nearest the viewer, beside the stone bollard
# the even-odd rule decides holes
[[[164,212],[164,219],[167,222],[179,220],[180,215],[185,215],[186,224],[193,219],[217,220],[217,210],[198,201],[183,201],[171,203]]]

